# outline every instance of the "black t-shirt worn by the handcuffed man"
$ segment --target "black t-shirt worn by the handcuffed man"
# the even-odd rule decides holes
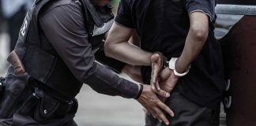
[[[168,59],[183,52],[190,29],[189,14],[201,11],[209,16],[209,37],[201,54],[191,63],[188,75],[179,80],[177,89],[201,106],[218,106],[224,91],[224,72],[220,45],[213,29],[216,19],[215,0],[121,0],[115,22],[136,29],[141,49],[160,51]],[[145,83],[150,67],[142,67]]]

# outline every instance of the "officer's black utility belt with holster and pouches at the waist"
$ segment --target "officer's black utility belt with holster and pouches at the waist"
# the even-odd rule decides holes
[[[9,74],[6,79],[1,78],[1,83],[0,119],[9,119],[13,113],[19,113],[44,122],[77,112],[75,98],[69,102],[60,102],[36,87],[27,72],[19,76]]]

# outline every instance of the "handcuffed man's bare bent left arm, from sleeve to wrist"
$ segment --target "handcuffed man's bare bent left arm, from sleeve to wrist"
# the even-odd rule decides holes
[[[105,54],[130,65],[151,65],[152,53],[128,43],[133,33],[133,28],[127,28],[115,22],[107,36],[104,46]]]

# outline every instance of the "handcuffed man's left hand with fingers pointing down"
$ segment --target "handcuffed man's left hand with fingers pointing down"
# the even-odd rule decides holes
[[[160,95],[160,92],[163,92],[160,88],[160,83],[159,83],[159,76],[160,72],[163,69],[164,65],[164,59],[166,57],[163,56],[160,52],[156,52],[155,54],[152,54],[151,57],[151,62],[152,62],[152,72],[151,72],[151,80],[150,80],[150,85],[152,87],[152,91],[154,91],[156,94]],[[167,95],[170,95],[167,91],[165,91]]]

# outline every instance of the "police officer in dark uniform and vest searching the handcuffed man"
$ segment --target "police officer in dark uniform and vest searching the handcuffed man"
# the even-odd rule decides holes
[[[15,51],[25,72],[13,66],[5,81],[0,125],[77,125],[75,96],[87,83],[105,95],[136,98],[160,121],[171,109],[149,86],[137,85],[112,74],[95,62],[93,52],[111,28],[109,0],[36,0],[21,27]],[[168,97],[167,92],[161,96]]]

